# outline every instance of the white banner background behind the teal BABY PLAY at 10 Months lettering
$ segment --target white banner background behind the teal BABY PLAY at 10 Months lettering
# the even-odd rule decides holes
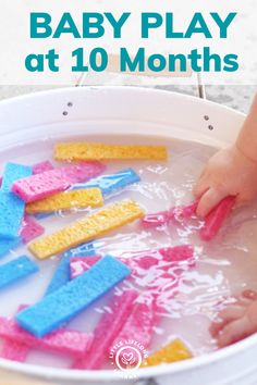
[[[210,46],[211,50],[221,55],[225,53],[238,54],[240,71],[235,73],[204,74],[206,84],[256,85],[257,84],[257,28],[255,0],[0,0],[0,84],[1,85],[70,85],[76,83],[79,74],[71,72],[72,50],[87,47],[88,50],[101,46],[109,53],[119,52],[119,47],[125,46],[131,52],[138,47],[147,47],[148,52],[157,53],[186,53],[191,49]],[[83,12],[132,12],[131,17],[123,27],[122,39],[112,39],[112,29],[106,26],[106,35],[100,39],[74,39],[64,36],[60,39],[30,39],[29,13],[49,12],[52,15],[53,29],[63,12],[71,12],[78,28],[82,28]],[[205,16],[213,39],[195,37],[192,39],[166,39],[164,26],[151,33],[150,39],[140,40],[140,12],[174,13],[174,23],[178,30],[184,32],[194,12],[201,12]],[[235,21],[229,28],[227,40],[218,38],[217,25],[209,12],[219,12],[225,16],[229,12],[237,12]],[[29,73],[24,61],[29,53],[46,53],[56,48],[60,53],[60,69],[57,73]],[[90,73],[85,83],[106,84],[110,74]],[[112,83],[120,83],[119,76],[112,76]],[[122,79],[124,83],[124,79]],[[151,78],[128,76],[125,84],[195,84],[194,76],[186,78]]]

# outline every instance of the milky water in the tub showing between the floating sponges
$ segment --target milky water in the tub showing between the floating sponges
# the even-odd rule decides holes
[[[73,137],[73,139],[79,139]],[[85,139],[85,138],[84,138]],[[107,174],[125,167],[133,167],[140,176],[142,182],[120,190],[107,199],[107,203],[125,198],[136,200],[148,213],[167,210],[174,206],[192,202],[192,186],[197,179],[201,167],[215,153],[216,149],[189,141],[171,139],[157,140],[145,137],[128,139],[127,137],[89,137],[88,141],[105,142],[136,142],[163,144],[169,148],[169,161],[113,161],[107,163]],[[7,161],[33,164],[41,160],[52,159],[52,145],[57,138],[48,138],[41,142],[30,142],[25,146],[9,148],[0,153],[2,167]],[[85,215],[89,210],[73,210],[73,212],[57,212],[54,215],[41,220],[46,233]],[[241,293],[245,288],[257,289],[257,258],[255,254],[255,234],[257,227],[257,207],[243,208],[233,212],[224,226],[210,243],[199,240],[198,229],[201,222],[196,218],[187,221],[160,226],[155,229],[143,228],[139,221],[128,224],[119,231],[101,237],[97,241],[97,252],[119,257],[128,251],[158,249],[161,247],[189,244],[195,247],[196,264],[184,269],[180,274],[179,285],[169,285],[170,278],[161,283],[163,287],[159,295],[159,323],[154,330],[154,337],[148,353],[162,345],[180,337],[193,350],[195,356],[208,353],[217,349],[216,341],[210,337],[208,327],[216,316],[219,303],[224,298]],[[26,247],[10,250],[0,263],[28,253]],[[33,258],[33,257],[32,257]],[[12,316],[21,303],[34,303],[42,295],[59,262],[60,257],[39,261],[40,273],[20,284],[0,291],[0,315]],[[175,268],[174,268],[175,269]],[[170,271],[170,273],[175,273]],[[135,287],[140,290],[142,298],[146,293],[145,282],[150,282],[155,274],[155,266],[143,272],[144,278],[134,281]],[[131,282],[123,282],[114,293],[126,289]],[[155,291],[155,289],[152,289]],[[152,291],[152,293],[154,293]],[[100,315],[106,311],[110,295],[95,302],[89,309],[75,318],[70,328],[78,331],[94,330]],[[74,298],[75,300],[75,298]],[[30,350],[28,363],[69,368],[72,360]],[[103,368],[111,369],[106,360]]]

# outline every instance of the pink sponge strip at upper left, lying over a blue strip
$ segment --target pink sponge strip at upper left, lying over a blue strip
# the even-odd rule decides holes
[[[105,169],[106,166],[100,162],[84,162],[45,171],[41,174],[15,181],[12,191],[25,202],[33,202],[63,191],[74,183],[86,182],[98,176]]]

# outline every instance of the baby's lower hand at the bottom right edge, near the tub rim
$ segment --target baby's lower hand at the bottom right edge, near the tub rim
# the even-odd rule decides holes
[[[237,301],[219,313],[219,321],[210,326],[220,348],[257,332],[257,293],[246,290]]]

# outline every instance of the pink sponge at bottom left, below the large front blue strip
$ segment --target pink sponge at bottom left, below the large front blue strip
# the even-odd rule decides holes
[[[76,331],[59,328],[44,338],[36,338],[21,328],[14,320],[0,316],[0,336],[29,348],[59,352],[72,357],[83,357],[89,349],[93,336]]]

